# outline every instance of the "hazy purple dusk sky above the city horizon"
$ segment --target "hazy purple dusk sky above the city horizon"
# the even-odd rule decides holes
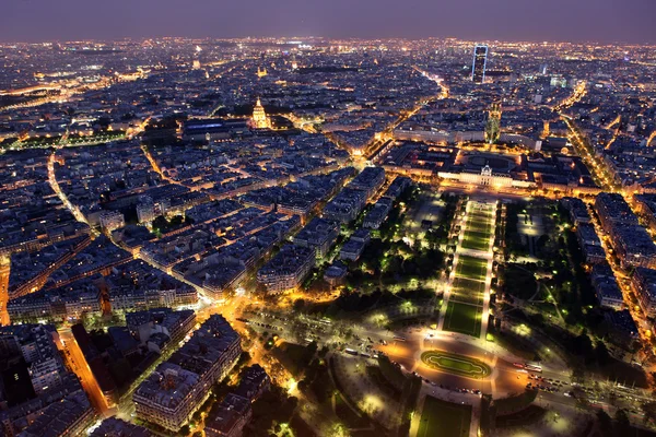
[[[445,37],[656,44],[656,0],[3,0],[0,40]]]

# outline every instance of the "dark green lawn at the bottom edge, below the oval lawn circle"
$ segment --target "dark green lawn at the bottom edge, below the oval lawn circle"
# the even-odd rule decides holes
[[[471,422],[471,405],[442,401],[427,395],[417,437],[467,437]]]

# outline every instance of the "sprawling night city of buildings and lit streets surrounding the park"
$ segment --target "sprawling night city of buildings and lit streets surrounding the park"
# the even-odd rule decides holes
[[[108,408],[137,386],[136,417],[178,433],[242,354],[202,311],[344,285],[413,184],[559,199],[607,338],[633,344],[656,317],[652,47],[151,38],[0,57],[2,435],[157,434],[96,423],[78,352]],[[202,433],[243,435],[270,383],[245,369]]]

